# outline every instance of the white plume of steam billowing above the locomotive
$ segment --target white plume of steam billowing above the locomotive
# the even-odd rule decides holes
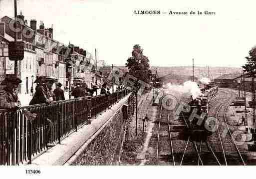
[[[192,98],[196,99],[199,95],[202,95],[197,83],[192,81],[186,81],[183,85],[167,83],[164,87],[170,93],[175,92],[176,95],[179,94],[179,97],[186,96],[189,98],[192,95]]]

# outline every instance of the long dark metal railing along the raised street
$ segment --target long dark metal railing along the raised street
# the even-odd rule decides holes
[[[17,111],[0,110],[0,165],[30,164],[47,150],[46,119],[52,122],[51,143],[61,141],[88,119],[110,109],[111,105],[128,95],[129,91],[94,97],[81,97],[22,107]],[[37,114],[30,122],[24,111]]]

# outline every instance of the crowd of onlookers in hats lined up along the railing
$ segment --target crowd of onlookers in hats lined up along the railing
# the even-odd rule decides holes
[[[18,77],[6,77],[2,81],[2,85],[5,87],[0,90],[0,108],[1,109],[7,109],[9,111],[17,110],[21,107],[20,100],[18,98],[18,95],[16,93],[18,85],[22,81]],[[50,104],[52,101],[58,101],[58,100],[65,100],[64,96],[64,90],[61,89],[62,84],[57,83],[56,79],[49,76],[41,76],[38,77],[34,83],[36,83],[35,87],[35,93],[33,93],[33,88],[30,90],[30,94],[33,95],[31,101],[29,102],[29,105],[35,105],[35,104]],[[56,84],[56,88],[52,91],[53,84]],[[73,88],[69,93],[74,98],[84,97],[87,95],[93,96],[93,93],[99,89],[96,85],[92,86],[91,88],[87,88],[86,86],[81,86],[80,81],[76,81],[75,88]],[[100,94],[108,94],[110,93],[110,89],[107,88],[106,84],[102,85],[102,88],[100,90]],[[121,87],[118,86],[116,88],[116,91],[121,91]],[[48,147],[54,146],[53,144],[50,144],[51,139],[51,126],[52,122],[50,120],[50,114],[49,116],[44,116],[44,121],[46,123],[47,127],[47,137],[48,137]]]

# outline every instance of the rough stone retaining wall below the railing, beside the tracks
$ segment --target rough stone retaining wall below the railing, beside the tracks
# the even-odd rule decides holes
[[[72,165],[117,165],[125,135],[123,108],[106,122],[100,133],[88,144]],[[127,112],[127,110],[126,110]]]

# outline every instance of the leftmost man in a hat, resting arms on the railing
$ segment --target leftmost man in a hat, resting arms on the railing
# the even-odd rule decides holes
[[[17,77],[6,77],[2,85],[6,85],[0,91],[0,108],[16,110],[20,108],[20,101],[15,90],[22,81]]]

